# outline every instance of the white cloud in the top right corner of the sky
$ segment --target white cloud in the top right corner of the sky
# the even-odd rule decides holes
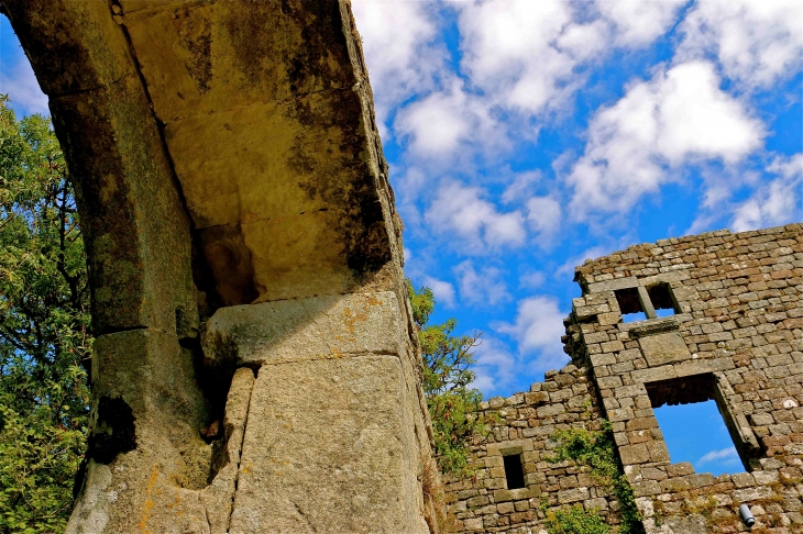
[[[801,69],[800,0],[697,1],[680,30],[678,58],[714,54],[725,76],[747,87],[768,87]]]

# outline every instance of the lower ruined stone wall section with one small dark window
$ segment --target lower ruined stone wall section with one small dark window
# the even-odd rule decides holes
[[[550,463],[559,430],[582,425],[600,430],[603,413],[585,368],[569,365],[547,372],[544,382],[507,399],[494,397],[480,415],[496,421],[472,446],[473,477],[447,479],[450,514],[457,532],[528,533],[543,519],[543,507],[580,503],[604,514],[613,500],[588,472],[569,461]],[[520,457],[525,487],[508,489],[504,456]],[[537,530],[537,529],[536,529]]]

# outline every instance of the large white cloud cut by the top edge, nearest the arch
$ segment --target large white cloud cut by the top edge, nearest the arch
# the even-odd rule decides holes
[[[678,1],[575,5],[562,0],[461,4],[463,67],[497,103],[527,114],[562,105],[581,67],[614,46],[644,46],[674,22]]]

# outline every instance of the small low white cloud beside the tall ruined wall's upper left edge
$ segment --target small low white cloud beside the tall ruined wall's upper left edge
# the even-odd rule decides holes
[[[535,296],[519,301],[513,323],[497,322],[493,327],[516,340],[519,353],[529,356],[527,369],[540,372],[561,367],[568,359],[560,341],[565,316],[553,297]]]

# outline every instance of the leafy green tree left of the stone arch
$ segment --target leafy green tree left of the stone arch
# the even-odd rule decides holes
[[[51,123],[0,94],[0,533],[62,532],[85,448],[84,243]]]

